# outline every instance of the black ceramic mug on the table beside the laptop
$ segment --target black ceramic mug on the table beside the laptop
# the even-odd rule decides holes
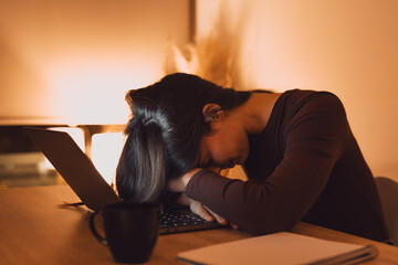
[[[105,237],[95,229],[94,219],[102,213]],[[119,202],[104,206],[90,216],[90,227],[95,237],[108,245],[118,263],[145,263],[154,251],[160,220],[157,203]]]

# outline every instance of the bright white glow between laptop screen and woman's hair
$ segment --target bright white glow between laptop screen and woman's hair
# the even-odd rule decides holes
[[[97,134],[92,138],[92,160],[107,183],[112,183],[124,145],[122,132]]]

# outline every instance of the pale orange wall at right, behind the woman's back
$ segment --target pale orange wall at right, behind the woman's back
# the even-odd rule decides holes
[[[398,181],[398,1],[219,2],[237,38],[226,40],[238,47],[234,84],[335,93],[374,174]],[[197,4],[200,38],[219,10]]]

